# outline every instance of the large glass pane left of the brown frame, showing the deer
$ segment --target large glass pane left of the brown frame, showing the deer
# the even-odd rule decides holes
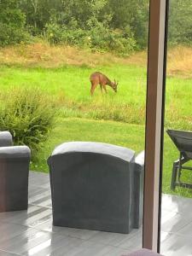
[[[0,252],[141,248],[148,0],[0,1],[0,28],[0,131],[32,149]]]

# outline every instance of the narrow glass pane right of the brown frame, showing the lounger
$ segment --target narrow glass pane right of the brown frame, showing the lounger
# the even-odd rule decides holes
[[[192,255],[191,17],[191,1],[170,0],[161,212],[166,256]]]

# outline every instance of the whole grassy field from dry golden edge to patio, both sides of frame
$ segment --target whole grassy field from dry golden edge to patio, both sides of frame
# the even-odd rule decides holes
[[[71,48],[68,51],[57,49],[55,54],[52,48],[45,46],[34,48],[33,55],[30,50],[23,46],[3,49],[0,86],[2,91],[8,92],[14,87],[39,88],[53,96],[60,108],[55,129],[49,134],[38,159],[32,162],[33,170],[48,172],[47,157],[55,145],[67,141],[97,141],[133,148],[137,152],[143,150],[147,76],[144,53],[120,59],[87,52],[80,55],[80,50]],[[177,59],[175,69],[172,62],[169,66],[165,129],[192,130],[192,79],[189,69],[184,69],[181,63]],[[97,88],[96,94],[90,97],[89,77],[95,71],[119,80],[118,93],[108,87],[108,95],[102,95]],[[172,193],[172,161],[177,159],[177,150],[166,135],[164,155],[163,190]],[[192,181],[192,176],[185,175],[185,178]],[[177,189],[177,193],[192,197],[189,189]]]

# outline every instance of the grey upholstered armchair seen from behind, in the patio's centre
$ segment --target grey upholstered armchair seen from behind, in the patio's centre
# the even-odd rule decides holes
[[[142,223],[141,155],[135,163],[128,148],[63,143],[48,164],[54,225],[129,233]]]

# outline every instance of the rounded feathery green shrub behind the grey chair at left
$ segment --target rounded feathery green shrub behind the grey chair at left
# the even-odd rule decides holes
[[[10,131],[15,144],[27,145],[34,157],[53,127],[54,102],[37,89],[10,91],[1,96],[0,131]]]

